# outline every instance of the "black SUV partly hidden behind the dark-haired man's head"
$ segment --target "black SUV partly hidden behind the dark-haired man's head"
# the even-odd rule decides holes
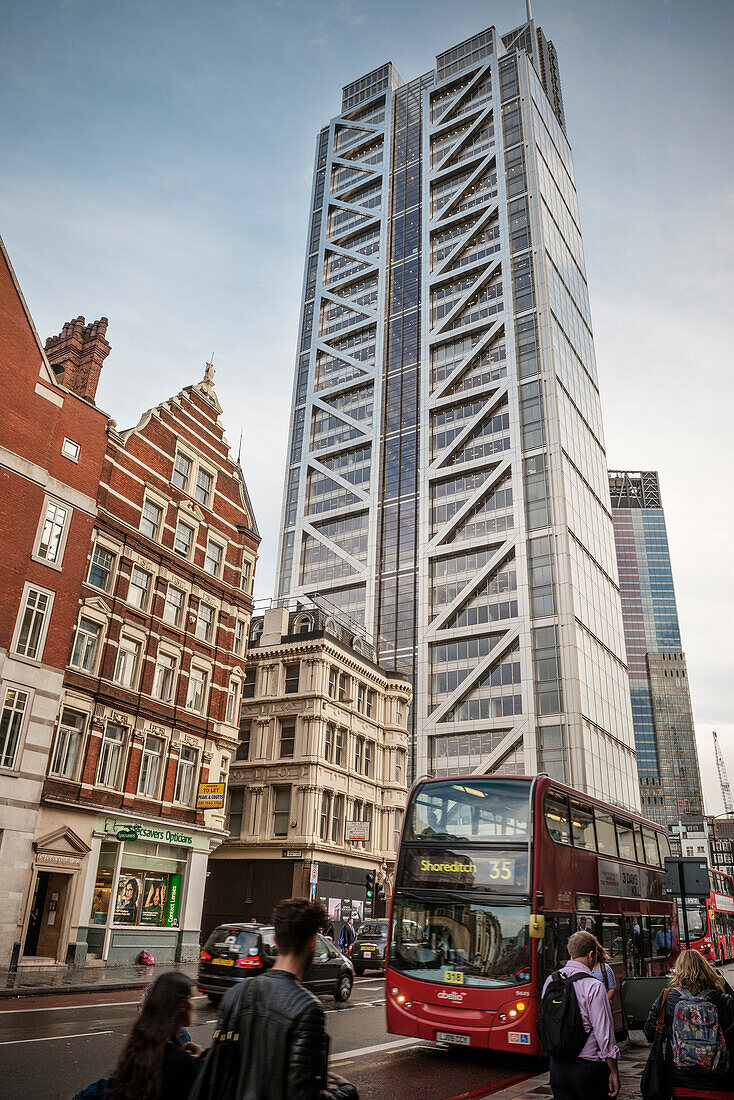
[[[212,1004],[219,1004],[231,986],[270,969],[276,957],[272,924],[220,924],[199,952],[197,985]],[[304,985],[313,993],[331,993],[343,1002],[349,1000],[353,981],[350,960],[317,935],[316,955]]]

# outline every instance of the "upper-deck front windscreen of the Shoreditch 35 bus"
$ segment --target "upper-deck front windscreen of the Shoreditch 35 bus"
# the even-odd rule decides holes
[[[408,810],[408,840],[527,840],[530,781],[471,779],[426,783]]]

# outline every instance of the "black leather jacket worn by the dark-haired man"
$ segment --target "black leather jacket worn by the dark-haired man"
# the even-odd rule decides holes
[[[242,1065],[237,1100],[358,1100],[353,1085],[327,1087],[324,1005],[287,970],[232,987],[220,1024],[239,1009]]]

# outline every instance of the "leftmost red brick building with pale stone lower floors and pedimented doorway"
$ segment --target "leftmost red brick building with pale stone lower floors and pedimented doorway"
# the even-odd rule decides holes
[[[91,340],[100,367],[109,352],[106,326],[97,322]],[[31,933],[36,949],[63,960],[67,948],[67,872],[80,866],[85,846],[63,829],[40,828],[39,806],[87,571],[108,418],[65,387],[50,364],[1,240],[0,384],[2,967],[19,959],[35,891],[44,897]]]

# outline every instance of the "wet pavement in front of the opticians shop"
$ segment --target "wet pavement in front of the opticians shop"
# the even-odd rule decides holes
[[[21,966],[14,971],[0,970],[0,999],[143,989],[161,970],[180,970],[189,978],[196,978],[197,966],[198,959],[195,963],[163,963],[158,967]]]

